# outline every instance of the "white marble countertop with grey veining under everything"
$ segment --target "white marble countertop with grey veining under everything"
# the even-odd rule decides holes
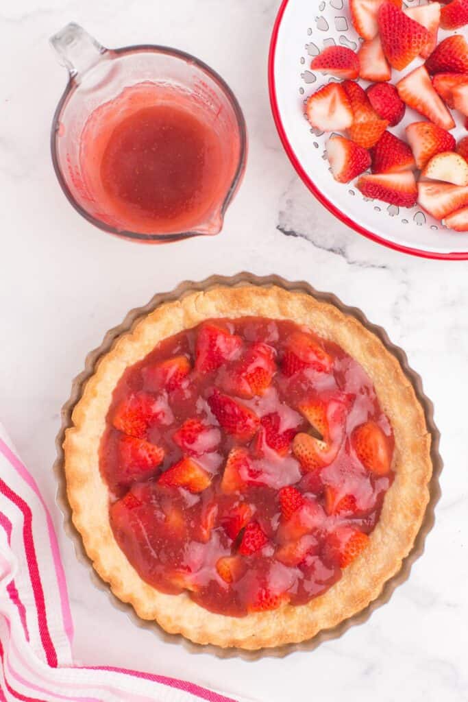
[[[383,249],[335,220],[300,183],[269,112],[267,51],[278,4],[1,1],[0,417],[54,511],[80,661],[187,677],[262,702],[465,700],[468,264]],[[69,206],[48,147],[66,77],[47,42],[69,20],[108,46],[161,43],[195,53],[234,88],[246,114],[250,154],[219,237],[143,248],[95,230]],[[190,654],[113,609],[62,533],[51,472],[60,406],[105,331],[182,279],[246,269],[306,279],[385,326],[434,400],[446,463],[436,529],[391,602],[313,653],[255,663]]]

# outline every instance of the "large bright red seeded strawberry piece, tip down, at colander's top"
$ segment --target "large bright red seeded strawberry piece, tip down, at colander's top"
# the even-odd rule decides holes
[[[397,71],[406,68],[431,41],[426,27],[392,3],[385,2],[380,6],[377,22],[385,57]]]

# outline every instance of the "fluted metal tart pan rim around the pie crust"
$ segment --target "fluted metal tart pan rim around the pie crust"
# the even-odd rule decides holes
[[[245,284],[257,285],[262,287],[276,285],[290,291],[300,291],[302,293],[309,293],[312,296],[314,296],[314,298],[316,298],[317,300],[321,300],[321,302],[335,305],[335,307],[337,307],[344,314],[348,314],[352,317],[355,317],[359,322],[361,322],[361,324],[363,324],[363,326],[366,326],[366,328],[369,331],[373,332],[382,341],[387,350],[389,350],[389,352],[391,352],[392,355],[394,355],[396,359],[398,359],[401,368],[406,374],[406,377],[408,378],[408,380],[410,380],[411,385],[413,385],[417,399],[419,400],[420,404],[422,405],[422,408],[424,409],[427,430],[432,437],[432,478],[429,482],[429,503],[427,505],[422,526],[415,539],[413,549],[403,560],[403,564],[399,572],[396,573],[392,578],[390,578],[387,581],[387,583],[385,583],[385,586],[382,589],[380,595],[375,600],[373,600],[373,602],[370,602],[366,609],[363,609],[354,616],[347,618],[345,621],[342,621],[337,626],[319,632],[309,641],[301,642],[299,644],[286,644],[284,646],[269,649],[260,649],[260,651],[246,651],[243,649],[236,648],[221,649],[219,647],[214,646],[213,644],[207,644],[205,646],[202,646],[200,644],[194,644],[193,642],[190,642],[189,640],[185,639],[185,637],[183,637],[180,634],[174,635],[166,633],[159,627],[159,625],[156,622],[144,621],[140,619],[137,616],[137,614],[135,614],[135,611],[133,610],[133,607],[131,607],[130,604],[125,604],[118,600],[117,597],[115,597],[109,585],[102,581],[98,574],[94,571],[91,559],[88,558],[83,548],[81,535],[76,530],[72,522],[72,510],[67,500],[64,455],[62,449],[62,444],[65,439],[65,430],[72,426],[72,411],[76,402],[78,402],[78,400],[81,397],[86,381],[95,372],[95,367],[98,364],[100,358],[103,355],[107,354],[107,352],[109,352],[109,350],[116,342],[116,339],[119,338],[121,334],[133,329],[133,326],[138,322],[138,320],[141,317],[144,317],[145,315],[149,314],[149,312],[152,312],[156,307],[158,307],[162,303],[177,300],[182,296],[185,296],[186,294],[192,293],[194,291],[206,291],[210,288],[219,285],[240,286]],[[283,656],[286,656],[287,654],[290,654],[293,651],[312,651],[323,641],[328,641],[340,637],[352,625],[362,624],[365,621],[367,621],[370,614],[372,614],[373,611],[377,609],[377,607],[381,607],[382,604],[388,602],[394,589],[408,579],[413,563],[424,551],[425,538],[434,526],[434,508],[441,496],[439,476],[441,474],[443,463],[439,454],[440,434],[439,430],[434,424],[434,406],[432,405],[432,402],[426,397],[426,395],[424,395],[424,391],[422,390],[422,380],[420,376],[417,375],[415,371],[410,369],[405,352],[401,348],[395,346],[390,342],[387,333],[384,329],[382,329],[382,327],[376,326],[375,324],[370,324],[370,322],[368,322],[368,319],[366,319],[365,315],[363,314],[363,312],[361,312],[361,310],[358,310],[356,307],[347,307],[340,300],[338,300],[338,298],[335,295],[331,293],[321,293],[316,291],[307,282],[289,282],[278,275],[258,277],[248,272],[242,272],[231,277],[213,275],[201,282],[185,281],[178,285],[177,288],[175,288],[171,292],[156,294],[154,298],[152,298],[152,300],[150,300],[150,302],[147,305],[145,305],[145,307],[137,307],[134,310],[128,312],[126,318],[121,324],[119,324],[119,326],[116,326],[114,327],[114,329],[110,329],[107,332],[100,347],[91,351],[88,354],[88,356],[86,357],[83,372],[80,373],[79,376],[76,376],[76,378],[74,378],[72,382],[72,392],[69,399],[67,400],[67,402],[65,402],[64,406],[62,407],[61,416],[62,426],[60,428],[60,432],[58,432],[58,435],[55,439],[55,445],[57,448],[57,458],[53,465],[53,470],[58,480],[57,503],[60,507],[60,510],[62,510],[62,514],[64,517],[65,531],[74,542],[76,556],[83,564],[86,565],[86,567],[88,567],[93,584],[100,590],[107,591],[109,598],[114,607],[116,607],[116,609],[125,611],[128,614],[128,616],[131,617],[135,624],[141,627],[151,629],[156,635],[159,636],[161,640],[171,643],[182,643],[192,653],[211,653],[220,658],[240,656],[241,658],[244,658],[246,660],[255,661],[258,658],[262,658],[263,656],[274,656],[282,658]]]

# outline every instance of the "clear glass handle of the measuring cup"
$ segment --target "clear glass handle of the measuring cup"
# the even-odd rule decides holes
[[[72,78],[86,73],[107,51],[105,46],[75,22],[70,22],[60,29],[60,32],[54,34],[50,41],[58,53],[59,62],[67,68]]]

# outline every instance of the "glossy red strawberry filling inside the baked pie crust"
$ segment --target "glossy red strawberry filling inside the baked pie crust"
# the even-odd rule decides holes
[[[390,465],[382,475],[382,456],[392,458],[392,430],[361,366],[337,345],[297,331],[293,322],[256,317],[205,322],[164,340],[119,380],[100,469],[116,541],[158,590],[186,590],[206,609],[232,616],[304,604],[340,578],[349,554],[354,557],[352,545],[366,545],[393,479]],[[159,366],[173,358],[178,375]],[[220,400],[225,396],[237,403],[234,413],[229,399]],[[146,403],[138,421],[123,411],[128,402],[135,408],[135,397]],[[323,402],[335,408],[328,430],[321,425],[334,448],[319,452],[323,465],[311,470],[295,457],[295,442],[298,434],[320,433],[300,406]],[[178,431],[189,419],[201,425]],[[377,472],[369,468],[375,442],[354,450],[353,431],[363,423],[375,424],[377,439],[385,442]],[[131,468],[122,463],[129,460],[128,446],[121,450],[122,429],[138,435]],[[373,433],[367,428],[361,435]],[[145,442],[163,449],[154,468],[159,452],[148,451]],[[184,458],[182,468],[159,484]],[[295,491],[280,493],[286,486]]]

